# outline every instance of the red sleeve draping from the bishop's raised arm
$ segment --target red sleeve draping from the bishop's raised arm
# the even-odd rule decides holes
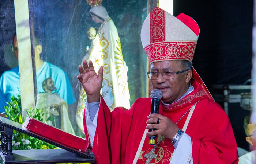
[[[92,148],[96,163],[120,163],[122,152],[124,153],[122,148],[125,148],[126,145],[135,104],[136,102],[129,110],[118,107],[110,112],[108,105],[101,97]],[[89,138],[85,116],[84,132],[86,138]]]

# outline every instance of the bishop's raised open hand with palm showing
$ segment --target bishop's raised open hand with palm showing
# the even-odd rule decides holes
[[[87,65],[86,60],[83,60],[83,67],[79,65],[78,69],[80,75],[78,75],[77,78],[86,92],[87,102],[99,102],[103,81],[103,66],[99,68],[98,75],[94,70],[93,62],[91,61],[89,61]]]

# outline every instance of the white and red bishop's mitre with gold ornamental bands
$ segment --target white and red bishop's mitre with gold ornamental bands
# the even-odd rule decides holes
[[[199,36],[199,26],[191,17],[177,17],[161,8],[154,8],[141,30],[143,48],[150,63],[163,60],[192,62]]]

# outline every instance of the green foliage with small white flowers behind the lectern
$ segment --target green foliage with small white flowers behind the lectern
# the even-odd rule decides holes
[[[11,102],[7,102],[8,106],[5,106],[5,115],[7,118],[9,118],[12,121],[18,122],[20,124],[23,124],[25,121],[25,117],[22,117],[22,110],[21,110],[21,100],[20,95],[17,97],[12,96]],[[27,114],[30,117],[33,117],[37,120],[42,121],[41,118],[46,114],[47,112],[41,110],[41,109],[29,109],[27,110]],[[49,120],[52,120],[54,118],[48,118]],[[16,130],[14,130],[12,135],[12,149],[13,150],[28,150],[28,149],[56,149],[56,146],[49,144],[47,142],[38,140],[34,137],[28,136],[24,133],[20,133]]]

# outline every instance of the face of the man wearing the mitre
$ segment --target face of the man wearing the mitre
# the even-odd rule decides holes
[[[151,71],[162,72],[162,71],[182,71],[185,68],[181,65],[181,60],[175,61],[160,61],[151,64]],[[188,71],[187,71],[188,72]],[[152,80],[151,83],[153,89],[159,89],[162,91],[162,101],[166,103],[172,103],[177,101],[182,95],[184,95],[188,89],[187,83],[187,72],[174,74],[173,79],[164,79],[159,73],[157,79]]]

